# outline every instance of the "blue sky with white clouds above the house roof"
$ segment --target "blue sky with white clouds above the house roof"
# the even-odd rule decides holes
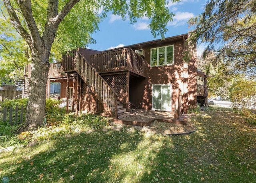
[[[182,2],[169,3],[168,8],[175,13],[173,22],[168,23],[168,32],[165,37],[186,34],[193,27],[188,28],[188,20],[202,14],[205,4],[208,0],[182,0]],[[160,39],[154,38],[147,25],[150,20],[142,18],[137,20],[136,24],[130,24],[129,20],[123,21],[119,16],[109,14],[103,22],[100,23],[100,30],[92,35],[96,44],[88,45],[93,50],[108,50],[121,46]]]

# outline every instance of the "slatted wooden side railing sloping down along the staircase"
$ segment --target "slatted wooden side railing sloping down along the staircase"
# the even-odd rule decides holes
[[[117,93],[108,85],[108,83],[98,74],[88,61],[78,52],[73,50],[74,56],[74,70],[81,76],[84,82],[90,86],[91,91],[104,105],[107,111],[117,118]],[[87,74],[87,76],[86,76]],[[91,77],[88,77],[91,75]],[[102,82],[100,85],[99,82]],[[106,92],[107,91],[107,92]]]

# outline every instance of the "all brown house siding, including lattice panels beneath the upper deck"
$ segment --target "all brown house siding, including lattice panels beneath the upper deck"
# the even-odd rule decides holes
[[[152,85],[170,84],[172,85],[172,111],[177,109],[178,91],[182,95],[182,112],[187,112],[188,106],[196,105],[196,52],[193,52],[193,58],[186,63],[182,60],[184,51],[184,40],[187,35],[176,36],[166,40],[156,40],[146,44],[136,44],[129,46],[132,50],[143,49],[145,51],[145,60],[148,62],[148,77],[138,77],[129,75],[129,72],[122,74],[102,76],[104,80],[118,93],[120,101],[126,103],[129,101],[129,108],[152,109]],[[150,67],[150,48],[174,45],[174,63],[168,66]],[[192,49],[195,49],[192,48]],[[90,55],[100,53],[96,50],[79,49],[79,52],[90,63]],[[91,63],[90,63],[91,64]],[[129,90],[128,89],[129,85]],[[70,87],[73,82],[70,82]],[[76,95],[75,84],[75,95]],[[104,111],[102,104],[82,81],[82,93],[80,101],[80,110],[83,111]],[[72,95],[72,93],[71,93]],[[66,82],[61,85],[61,98],[66,97]]]

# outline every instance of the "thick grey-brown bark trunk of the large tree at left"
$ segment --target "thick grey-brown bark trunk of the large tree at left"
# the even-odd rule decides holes
[[[18,130],[29,131],[42,125],[45,120],[46,84],[50,68],[49,55],[46,49],[39,52],[32,50],[31,79],[29,83],[26,122]]]

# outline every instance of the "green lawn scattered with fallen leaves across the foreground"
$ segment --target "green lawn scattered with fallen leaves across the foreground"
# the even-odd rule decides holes
[[[256,182],[256,128],[214,108],[191,118],[189,135],[82,131],[0,154],[10,182]]]

